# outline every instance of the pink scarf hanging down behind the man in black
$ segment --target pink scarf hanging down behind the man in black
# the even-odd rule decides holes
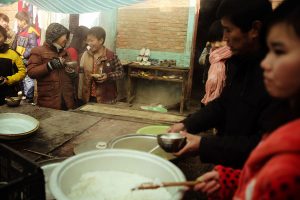
[[[225,86],[225,60],[232,55],[228,46],[220,47],[211,51],[209,56],[210,68],[205,84],[205,96],[201,100],[203,104],[219,97]]]

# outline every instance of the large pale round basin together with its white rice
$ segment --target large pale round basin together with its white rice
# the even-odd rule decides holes
[[[180,200],[183,187],[131,189],[145,182],[179,182],[186,178],[170,161],[125,149],[78,154],[63,161],[50,177],[57,200]]]

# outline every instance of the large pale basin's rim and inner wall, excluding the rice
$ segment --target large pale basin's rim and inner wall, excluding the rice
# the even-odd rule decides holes
[[[50,190],[57,200],[69,200],[67,194],[82,174],[106,170],[135,173],[160,181],[186,180],[179,168],[158,156],[134,150],[105,149],[78,154],[63,161],[51,174]],[[182,198],[182,189],[167,188],[172,200]]]

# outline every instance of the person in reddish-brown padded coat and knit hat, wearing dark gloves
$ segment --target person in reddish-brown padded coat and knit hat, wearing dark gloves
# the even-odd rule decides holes
[[[75,108],[74,81],[76,71],[65,68],[70,57],[65,50],[69,30],[52,23],[46,30],[43,46],[32,49],[28,75],[37,80],[37,104],[42,107],[68,110]]]

